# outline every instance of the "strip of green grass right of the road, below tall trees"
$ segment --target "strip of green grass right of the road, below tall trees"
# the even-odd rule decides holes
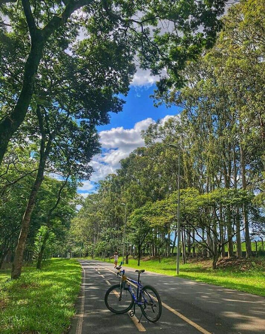
[[[101,260],[97,258],[97,260]],[[122,260],[119,258],[119,261]],[[108,261],[106,259],[106,261]],[[179,277],[193,281],[211,283],[222,287],[249,292],[251,294],[265,296],[265,258],[252,258],[234,260],[229,262],[221,260],[219,268],[211,268],[211,260],[189,260],[190,263],[180,264]],[[119,262],[118,262],[119,263]],[[161,263],[157,259],[140,262],[129,259],[128,266],[145,269],[151,272],[176,276],[176,257],[162,258]]]

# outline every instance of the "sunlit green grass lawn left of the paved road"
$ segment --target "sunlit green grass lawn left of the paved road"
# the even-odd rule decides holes
[[[18,280],[0,271],[0,333],[66,333],[75,314],[81,267],[75,260],[52,259],[41,270],[24,267]]]

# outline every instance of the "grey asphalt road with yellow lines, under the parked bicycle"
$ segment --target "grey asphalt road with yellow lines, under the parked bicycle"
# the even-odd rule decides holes
[[[118,279],[113,264],[80,260],[83,267],[80,312],[74,318],[69,334],[265,334],[265,298],[218,286],[172,276],[145,272],[142,283],[154,286],[162,299],[160,320],[141,324],[128,314],[111,313],[104,304],[109,285]],[[144,269],[144,266],[140,267]],[[128,277],[137,279],[135,269],[126,268]],[[265,287],[264,287],[265,288]],[[141,316],[137,307],[136,317]]]

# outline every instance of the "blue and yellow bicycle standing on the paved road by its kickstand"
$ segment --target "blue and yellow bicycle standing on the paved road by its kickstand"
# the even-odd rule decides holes
[[[113,313],[123,314],[130,311],[134,307],[134,311],[131,311],[129,315],[133,317],[135,315],[135,307],[138,305],[142,311],[139,323],[142,315],[150,321],[156,322],[159,320],[162,314],[162,303],[160,296],[155,288],[150,285],[143,286],[140,281],[140,275],[145,270],[136,270],[138,273],[138,281],[134,281],[125,276],[125,270],[121,270],[121,265],[117,267],[115,275],[121,278],[119,284],[111,286],[105,294],[105,305]],[[130,283],[137,286],[137,293],[135,295],[134,288],[131,288]]]

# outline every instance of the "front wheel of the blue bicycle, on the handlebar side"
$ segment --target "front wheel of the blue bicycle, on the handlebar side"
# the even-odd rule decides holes
[[[120,284],[116,284],[106,291],[105,305],[111,312],[123,314],[133,307],[134,299],[128,290],[124,290],[120,288]]]

